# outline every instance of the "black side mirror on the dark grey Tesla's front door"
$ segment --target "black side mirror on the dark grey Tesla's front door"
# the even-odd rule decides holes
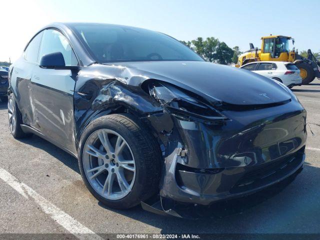
[[[50,69],[78,69],[78,66],[66,66],[61,52],[45,54],[40,59],[40,67]]]

